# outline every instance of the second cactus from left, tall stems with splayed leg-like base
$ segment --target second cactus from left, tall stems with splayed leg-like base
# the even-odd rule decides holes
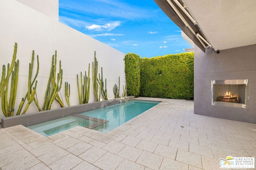
[[[33,71],[33,67],[34,67],[34,50],[32,51],[32,57],[31,57],[31,63],[29,63],[29,71],[28,71],[28,92],[26,93],[26,95],[24,96],[24,98],[22,98],[21,102],[20,102],[20,105],[19,105],[19,108],[18,108],[18,111],[16,112],[16,115],[20,115],[21,113],[21,110],[22,110],[22,107],[26,101],[26,99],[28,100],[27,104],[26,104],[26,107],[24,109],[24,111],[22,112],[22,114],[25,114],[28,107],[30,106],[30,104],[32,103],[32,101],[34,101],[34,103],[36,104],[36,107],[38,108],[39,111],[41,111],[41,108],[38,104],[38,101],[35,97],[36,95],[36,85],[37,85],[37,81],[36,81],[36,78],[38,76],[38,72],[39,72],[39,57],[38,55],[36,56],[37,58],[37,68],[36,68],[36,74],[33,78],[33,80],[31,81],[32,79],[32,71]],[[32,88],[32,86],[34,85],[34,82],[36,82],[35,84],[35,87]],[[32,90],[33,89],[33,90]]]

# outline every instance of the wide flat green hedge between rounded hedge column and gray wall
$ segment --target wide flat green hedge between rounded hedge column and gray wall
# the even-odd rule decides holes
[[[135,75],[138,74],[138,68],[136,70]],[[126,82],[127,87],[130,81]],[[192,100],[194,98],[194,53],[143,58],[140,67],[140,84],[140,96]]]

